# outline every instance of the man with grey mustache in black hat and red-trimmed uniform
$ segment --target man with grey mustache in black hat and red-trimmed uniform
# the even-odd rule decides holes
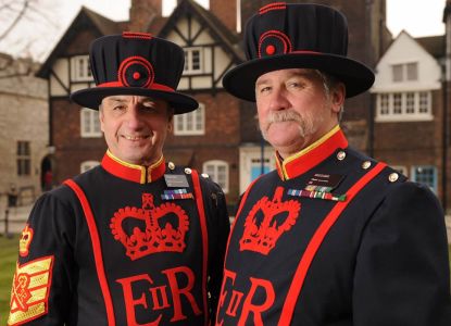
[[[255,101],[276,171],[242,195],[216,325],[451,325],[443,212],[427,187],[348,147],[346,97],[373,72],[346,57],[346,17],[273,3],[224,76]]]

